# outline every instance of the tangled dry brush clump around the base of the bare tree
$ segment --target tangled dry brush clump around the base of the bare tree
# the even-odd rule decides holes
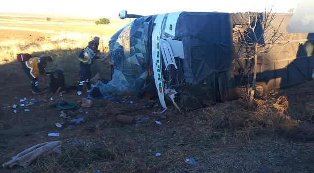
[[[205,116],[214,129],[228,130],[240,140],[250,140],[256,133],[273,132],[296,127],[299,121],[287,112],[289,102],[285,96],[254,99],[249,107],[248,96],[233,102],[209,107]]]

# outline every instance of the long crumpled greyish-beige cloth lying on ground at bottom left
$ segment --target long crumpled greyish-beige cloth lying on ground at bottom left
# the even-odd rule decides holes
[[[53,141],[35,145],[18,153],[16,156],[12,157],[12,160],[2,164],[2,167],[6,169],[8,167],[12,168],[14,165],[20,165],[26,168],[41,155],[48,154],[52,151],[61,154],[61,144],[61,141]]]

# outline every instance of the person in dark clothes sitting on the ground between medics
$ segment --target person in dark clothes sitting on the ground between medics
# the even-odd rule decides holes
[[[69,86],[65,84],[65,77],[61,69],[57,69],[54,72],[46,72],[50,76],[49,89],[55,95],[58,95],[62,91],[69,91],[71,89],[77,89],[76,86]]]

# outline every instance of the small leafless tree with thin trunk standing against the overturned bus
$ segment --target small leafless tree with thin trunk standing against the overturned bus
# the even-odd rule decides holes
[[[268,10],[265,8],[264,12],[245,12],[236,13],[233,15],[233,22],[235,24],[234,42],[238,44],[237,54],[239,59],[245,60],[243,74],[248,76],[253,72],[252,90],[250,91],[250,102],[253,100],[254,92],[256,89],[256,74],[258,58],[271,50],[274,44],[278,43],[278,39],[283,35],[279,32],[281,26],[280,22],[277,28],[271,25],[275,19],[275,12],[272,13],[272,7]],[[248,86],[251,84],[248,80]]]

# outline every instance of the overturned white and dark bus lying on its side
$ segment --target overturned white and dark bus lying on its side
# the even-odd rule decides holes
[[[126,11],[119,16],[128,17]],[[199,107],[237,98],[239,89],[252,87],[253,75],[244,71],[253,64],[240,58],[243,47],[235,38],[235,16],[183,11],[136,15],[111,37],[113,79],[96,87],[104,97],[149,92],[165,109],[166,102]],[[314,34],[286,32],[290,18],[276,14],[271,21],[275,28],[281,25],[283,35],[258,58],[256,84],[263,94],[312,80]]]

